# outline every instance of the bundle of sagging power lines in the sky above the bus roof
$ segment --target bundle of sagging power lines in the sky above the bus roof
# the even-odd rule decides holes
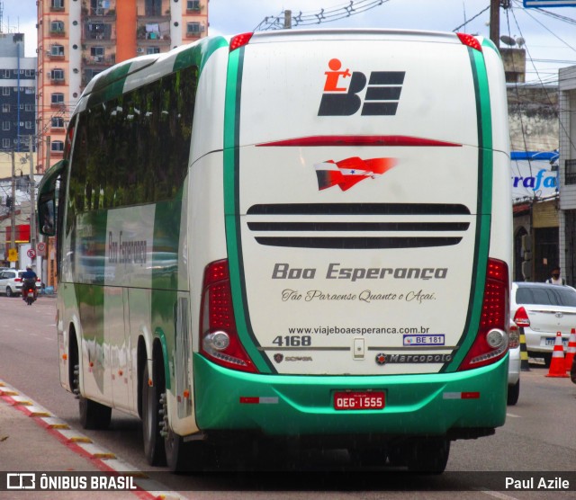
[[[321,24],[322,22],[338,21],[339,19],[345,19],[357,13],[364,13],[389,1],[390,0],[350,0],[347,4],[320,9],[320,11],[305,13],[300,11],[298,14],[291,15],[292,27],[311,26],[313,24]],[[266,16],[257,27],[254,28],[254,31],[284,29],[285,13],[290,12],[291,11],[286,10],[277,15]]]

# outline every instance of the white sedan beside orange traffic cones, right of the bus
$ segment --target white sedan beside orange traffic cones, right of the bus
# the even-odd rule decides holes
[[[510,317],[524,328],[528,356],[544,358],[549,367],[556,334],[562,333],[566,348],[576,326],[576,290],[565,285],[514,282]]]

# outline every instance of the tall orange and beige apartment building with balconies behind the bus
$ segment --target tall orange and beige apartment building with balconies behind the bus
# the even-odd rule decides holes
[[[208,33],[208,0],[38,0],[38,169],[64,155],[85,85],[117,62]]]

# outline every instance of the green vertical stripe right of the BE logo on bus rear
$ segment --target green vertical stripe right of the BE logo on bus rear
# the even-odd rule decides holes
[[[446,365],[442,371],[456,371],[476,339],[482,314],[490,250],[493,169],[490,87],[482,52],[468,49],[468,54],[473,72],[478,125],[478,201],[476,206],[476,235],[474,237],[474,275],[464,332],[453,361]]]

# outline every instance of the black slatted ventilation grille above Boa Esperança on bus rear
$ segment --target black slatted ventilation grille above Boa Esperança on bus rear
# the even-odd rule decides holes
[[[287,203],[247,210],[247,227],[260,245],[300,248],[453,246],[470,219],[464,205],[448,203]]]

